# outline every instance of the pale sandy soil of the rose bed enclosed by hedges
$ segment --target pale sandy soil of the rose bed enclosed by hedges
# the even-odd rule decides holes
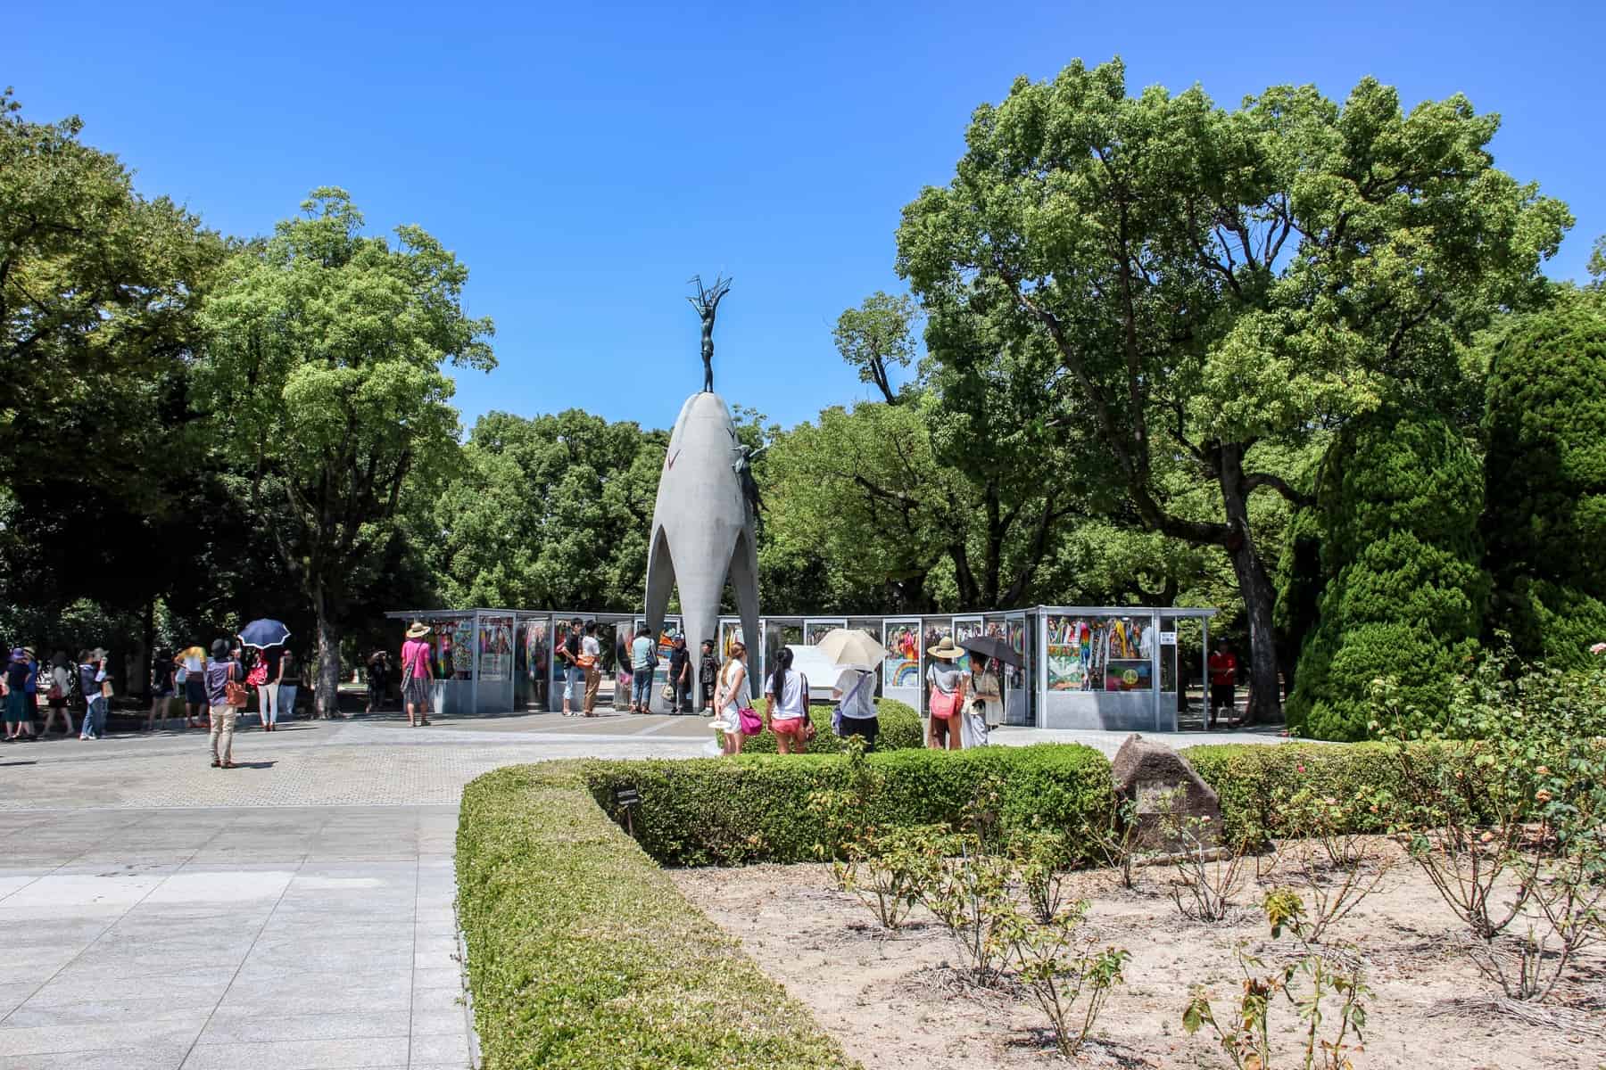
[[[867,908],[837,889],[824,865],[676,869],[671,876],[867,1070],[1063,1065],[1047,1019],[1025,996],[965,991],[956,983],[948,967],[956,959],[952,942],[920,908],[906,929],[885,932]],[[1248,906],[1214,926],[1187,921],[1168,886],[1163,868],[1142,869],[1135,890],[1121,889],[1107,871],[1070,877],[1071,897],[1092,903],[1084,929],[1132,953],[1126,985],[1115,990],[1097,1040],[1078,1057],[1081,1065],[1229,1067],[1214,1036],[1206,1038],[1208,1027],[1192,1038],[1182,1030],[1190,987],[1206,985],[1217,1019],[1227,1022],[1241,983],[1235,945],[1248,942],[1269,963],[1275,948],[1290,946],[1288,937],[1270,940],[1264,918]],[[1251,874],[1238,902],[1257,897]],[[1561,1007],[1571,1027],[1535,1025],[1489,1006],[1492,988],[1453,950],[1457,924],[1407,863],[1336,926],[1335,938],[1354,942],[1365,956],[1367,983],[1376,993],[1363,1051],[1352,1056],[1357,1070],[1606,1065],[1600,1033],[1606,1028],[1606,956],[1590,953],[1574,971],[1580,980],[1547,1004]],[[1280,1052],[1274,1067],[1302,1062],[1302,1051],[1294,1054],[1299,1025],[1286,1003],[1274,1011]]]

